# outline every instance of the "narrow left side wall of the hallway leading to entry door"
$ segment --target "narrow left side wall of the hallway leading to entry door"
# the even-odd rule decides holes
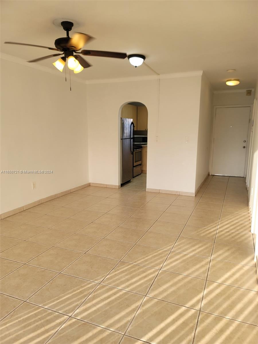
[[[211,84],[202,75],[200,115],[198,126],[198,145],[196,156],[196,180],[195,190],[197,190],[209,172],[209,156],[211,150],[212,135],[212,99],[213,93]]]

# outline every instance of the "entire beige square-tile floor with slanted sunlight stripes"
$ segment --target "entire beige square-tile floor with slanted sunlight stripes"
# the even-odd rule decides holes
[[[89,186],[1,220],[2,344],[255,344],[243,178]]]

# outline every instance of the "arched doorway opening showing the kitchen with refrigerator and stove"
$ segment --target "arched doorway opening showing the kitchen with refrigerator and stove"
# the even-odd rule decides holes
[[[148,110],[140,102],[124,104],[120,120],[120,185],[134,190],[146,190]]]

